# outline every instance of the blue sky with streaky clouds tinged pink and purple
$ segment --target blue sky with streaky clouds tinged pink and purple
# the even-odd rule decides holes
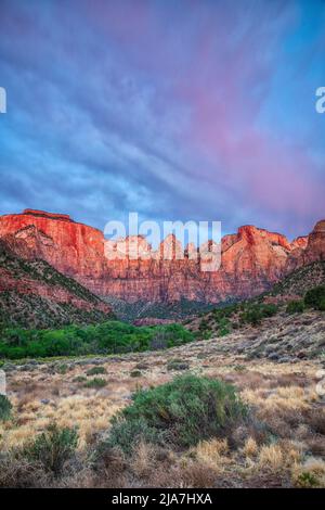
[[[325,2],[0,0],[0,214],[325,218]]]

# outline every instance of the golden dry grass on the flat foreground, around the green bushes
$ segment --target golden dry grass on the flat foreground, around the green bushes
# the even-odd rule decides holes
[[[0,466],[0,486],[72,487],[223,487],[325,486],[325,416],[315,394],[312,361],[272,364],[214,350],[213,342],[196,343],[172,353],[126,355],[103,364],[107,386],[86,388],[74,382],[93,365],[73,366],[58,374],[49,365],[32,371],[9,372],[8,390],[13,419],[0,423],[0,449],[10,451],[41,433],[55,420],[60,426],[78,426],[78,469],[69,467],[62,480],[49,480],[39,467],[20,463],[10,456]],[[98,469],[87,452],[109,428],[109,420],[130,401],[139,386],[162,384],[174,374],[168,359],[181,357],[191,369],[233,382],[253,409],[255,421],[227,438],[212,438],[184,452],[141,443],[130,459],[107,454]],[[145,362],[141,378],[131,378]],[[240,370],[238,370],[240,366]],[[42,401],[43,400],[43,401]],[[310,473],[310,474],[306,474]]]

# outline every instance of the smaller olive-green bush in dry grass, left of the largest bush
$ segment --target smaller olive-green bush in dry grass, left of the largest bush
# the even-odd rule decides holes
[[[75,454],[77,445],[76,429],[60,429],[56,423],[51,423],[46,432],[25,447],[24,455],[30,461],[41,462],[46,471],[58,476],[65,462]]]

